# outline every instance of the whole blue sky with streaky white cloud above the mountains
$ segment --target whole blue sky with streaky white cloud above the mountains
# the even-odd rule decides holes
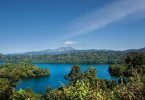
[[[145,0],[0,0],[0,53],[145,47]]]

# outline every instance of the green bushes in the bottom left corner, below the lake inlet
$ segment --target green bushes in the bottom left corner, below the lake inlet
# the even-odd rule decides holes
[[[29,88],[16,91],[8,79],[0,78],[0,100],[40,100],[40,97]]]

